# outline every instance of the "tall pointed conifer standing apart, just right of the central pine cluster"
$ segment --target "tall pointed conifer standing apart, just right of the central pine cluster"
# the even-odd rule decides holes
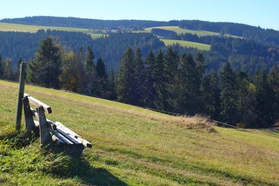
[[[220,117],[222,121],[231,125],[238,122],[236,75],[229,63],[226,63],[220,73]]]

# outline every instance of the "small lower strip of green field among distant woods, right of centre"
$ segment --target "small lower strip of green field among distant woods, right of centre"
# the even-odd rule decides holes
[[[160,40],[162,40],[165,43],[165,45],[179,44],[182,47],[193,47],[202,50],[210,50],[210,45],[206,45],[199,42],[191,42],[187,40],[166,40],[166,39],[160,39]]]

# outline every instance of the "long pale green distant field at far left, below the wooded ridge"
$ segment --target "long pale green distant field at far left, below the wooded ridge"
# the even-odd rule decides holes
[[[100,38],[105,36],[100,33],[93,33],[91,29],[80,29],[80,28],[72,28],[72,27],[59,27],[59,26],[36,26],[36,25],[28,25],[28,24],[10,24],[0,22],[0,31],[22,31],[22,32],[31,32],[36,33],[39,29],[50,29],[57,31],[77,31],[82,33],[88,33],[92,38]]]

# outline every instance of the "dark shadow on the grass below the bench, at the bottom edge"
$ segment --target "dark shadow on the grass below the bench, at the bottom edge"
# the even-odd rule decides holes
[[[95,168],[84,157],[70,156],[70,177],[82,180],[86,185],[127,185],[103,168]]]

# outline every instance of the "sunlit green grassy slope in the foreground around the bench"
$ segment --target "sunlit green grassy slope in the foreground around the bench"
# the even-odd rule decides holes
[[[93,144],[81,160],[44,153],[13,137],[17,86],[0,80],[0,185],[279,185],[278,130],[212,132],[204,118],[26,86]]]

